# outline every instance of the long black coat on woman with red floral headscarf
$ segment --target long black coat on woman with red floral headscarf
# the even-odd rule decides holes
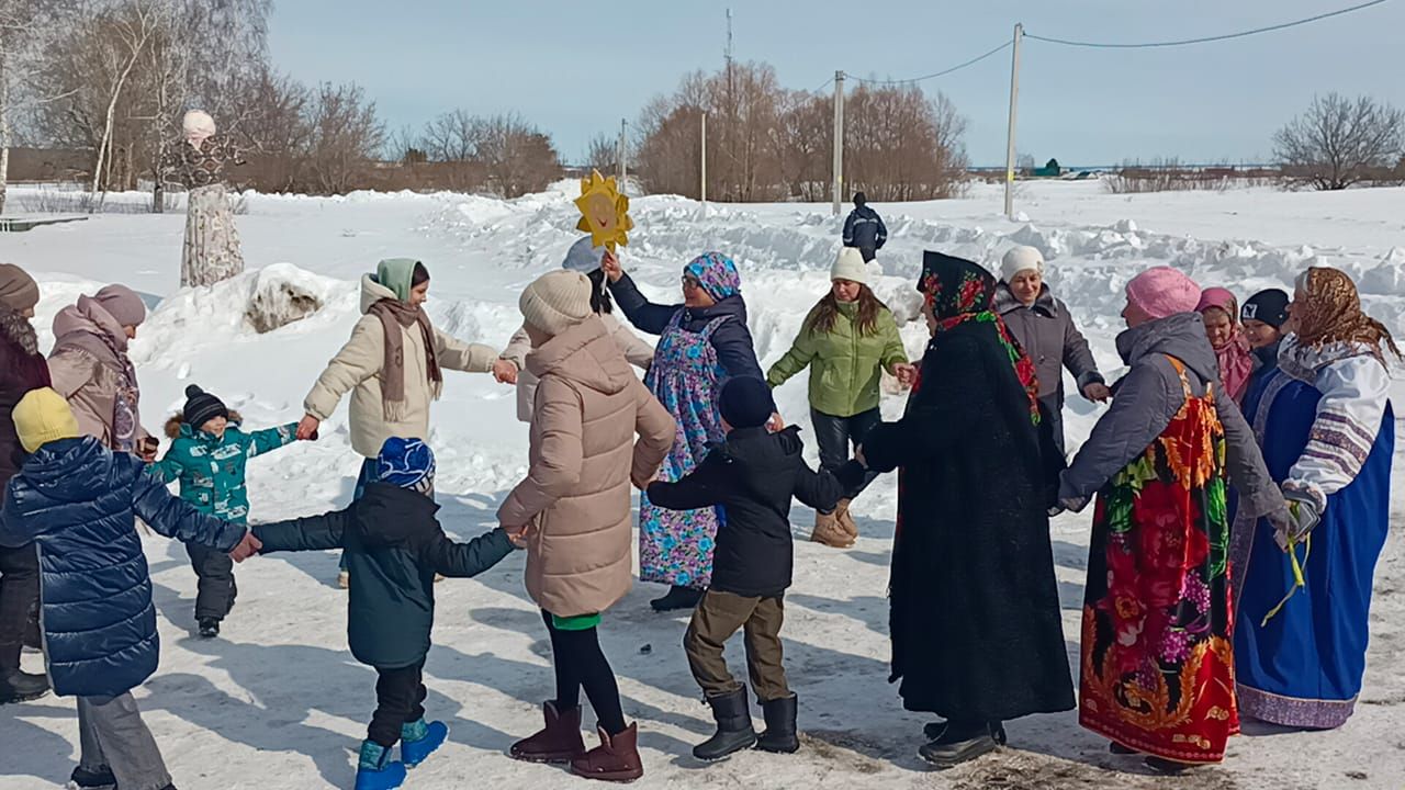
[[[1059,461],[992,325],[937,336],[908,413],[863,451],[903,468],[889,617],[903,706],[958,721],[1072,708],[1047,512]]]

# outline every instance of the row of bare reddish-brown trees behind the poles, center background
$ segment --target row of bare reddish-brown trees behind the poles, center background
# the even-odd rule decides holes
[[[653,98],[636,124],[632,160],[651,191],[701,191],[707,115],[708,197],[725,201],[823,200],[833,156],[833,96],[781,87],[766,63],[732,63],[686,76]],[[844,183],[871,200],[950,197],[965,177],[965,119],[941,94],[915,86],[860,84],[844,98]],[[613,167],[617,145],[597,138],[590,164]]]

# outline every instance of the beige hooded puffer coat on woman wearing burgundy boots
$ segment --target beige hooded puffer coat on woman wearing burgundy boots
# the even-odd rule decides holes
[[[532,350],[527,368],[540,380],[531,468],[497,520],[532,526],[525,581],[538,606],[559,617],[604,611],[629,592],[631,479],[658,472],[673,417],[599,318]]]

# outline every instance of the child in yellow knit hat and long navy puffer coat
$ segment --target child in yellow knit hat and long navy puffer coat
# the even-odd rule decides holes
[[[131,690],[160,654],[152,579],[136,517],[218,551],[247,548],[242,524],[171,496],[132,454],[80,437],[62,395],[34,389],[14,408],[28,458],[10,479],[0,545],[39,550],[44,644],[53,692],[77,697],[81,752],[70,787],[174,790]]]

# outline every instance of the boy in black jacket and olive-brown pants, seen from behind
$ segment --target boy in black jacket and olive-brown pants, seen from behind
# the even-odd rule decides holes
[[[683,647],[693,678],[702,686],[717,734],[693,749],[698,759],[721,759],[753,744],[769,752],[794,752],[795,694],[781,666],[783,596],[791,583],[791,496],[818,510],[833,510],[843,486],[816,474],[801,458],[799,429],[770,433],[771,391],[759,378],[733,378],[722,388],[726,441],[712,447],[690,475],[649,485],[649,502],[670,510],[721,506],[712,586],[693,611]],[[746,665],[766,714],[757,739],[746,686],[726,669],[722,648],[746,630]]]

